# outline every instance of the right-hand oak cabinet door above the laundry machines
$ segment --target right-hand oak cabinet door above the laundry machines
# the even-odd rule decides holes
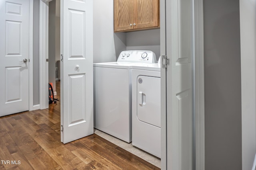
[[[158,0],[134,0],[134,29],[157,27]]]

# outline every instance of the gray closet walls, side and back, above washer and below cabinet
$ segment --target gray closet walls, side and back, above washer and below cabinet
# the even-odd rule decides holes
[[[114,33],[114,0],[93,1],[93,62],[116,61],[124,50],[151,50],[160,56],[160,29]]]

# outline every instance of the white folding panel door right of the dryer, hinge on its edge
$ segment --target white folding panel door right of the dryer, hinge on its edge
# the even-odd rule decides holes
[[[166,1],[167,169],[192,170],[193,1]]]

